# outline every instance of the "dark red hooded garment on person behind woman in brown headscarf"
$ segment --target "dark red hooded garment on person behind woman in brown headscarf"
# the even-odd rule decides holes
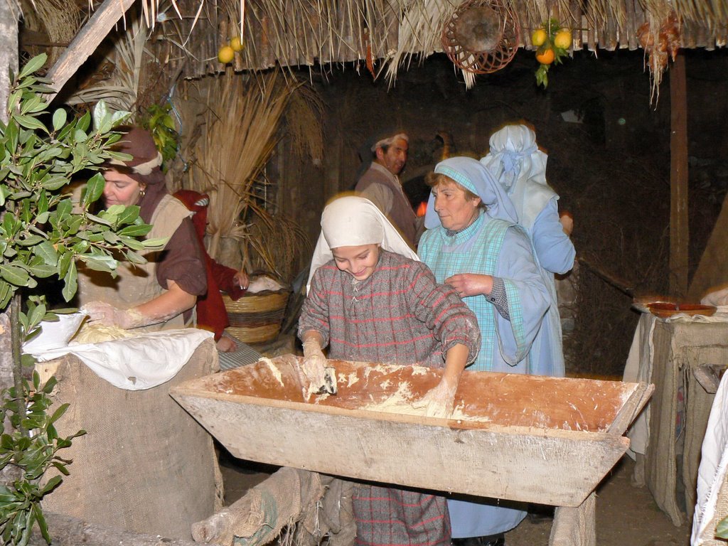
[[[207,293],[197,298],[197,328],[215,333],[215,341],[220,339],[225,328],[230,325],[227,311],[220,290],[237,300],[245,293],[233,277],[237,274],[235,269],[218,264],[205,250],[205,226],[207,226],[207,205],[210,198],[205,194],[189,189],[181,189],[175,197],[185,204],[194,215],[192,223],[197,234],[202,251],[205,253],[205,269],[207,269]]]

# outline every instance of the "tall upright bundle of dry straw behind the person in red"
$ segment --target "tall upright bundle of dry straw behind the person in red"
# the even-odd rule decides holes
[[[267,218],[261,202],[261,172],[277,143],[277,128],[290,92],[278,71],[247,79],[229,70],[207,90],[207,131],[196,143],[191,189],[210,194],[207,252],[219,256],[221,239],[250,239],[250,213]],[[210,191],[213,189],[214,191]],[[247,252],[243,245],[243,252]],[[248,256],[244,264],[250,265]]]

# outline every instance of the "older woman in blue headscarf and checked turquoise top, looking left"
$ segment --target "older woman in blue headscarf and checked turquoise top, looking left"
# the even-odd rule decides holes
[[[539,363],[531,359],[531,344],[549,296],[513,204],[486,167],[470,157],[438,163],[429,183],[419,256],[478,317],[480,353],[468,369],[534,373]],[[488,502],[448,500],[448,510],[453,542],[465,546],[502,545],[503,533],[526,516]]]

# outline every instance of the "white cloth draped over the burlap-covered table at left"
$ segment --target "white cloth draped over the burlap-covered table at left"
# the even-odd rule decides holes
[[[199,344],[211,337],[212,332],[183,328],[95,344],[67,345],[31,352],[31,355],[41,362],[63,355],[75,355],[114,387],[143,390],[172,379]]]

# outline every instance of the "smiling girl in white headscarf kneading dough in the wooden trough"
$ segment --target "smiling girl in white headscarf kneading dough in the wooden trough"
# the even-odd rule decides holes
[[[339,360],[444,368],[422,400],[427,414],[447,416],[460,375],[478,354],[475,315],[435,277],[368,199],[341,197],[321,217],[298,321],[304,372],[320,381],[328,345]],[[352,496],[360,545],[449,545],[446,500],[380,486]]]

